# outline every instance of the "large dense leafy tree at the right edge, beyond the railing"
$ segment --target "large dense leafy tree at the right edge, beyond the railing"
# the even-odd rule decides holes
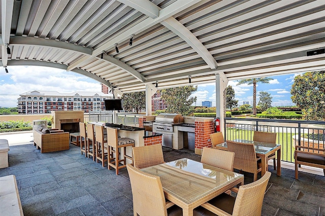
[[[325,120],[325,71],[307,72],[295,77],[291,100],[302,109],[307,120]]]

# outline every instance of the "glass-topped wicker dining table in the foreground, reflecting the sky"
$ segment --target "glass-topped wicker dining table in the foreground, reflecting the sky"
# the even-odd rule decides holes
[[[165,197],[193,215],[193,209],[219,194],[244,184],[244,176],[188,158],[141,169],[159,176]]]

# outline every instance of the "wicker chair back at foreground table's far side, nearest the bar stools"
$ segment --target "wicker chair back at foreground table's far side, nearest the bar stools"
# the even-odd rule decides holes
[[[139,169],[165,163],[160,144],[133,147],[133,165]]]

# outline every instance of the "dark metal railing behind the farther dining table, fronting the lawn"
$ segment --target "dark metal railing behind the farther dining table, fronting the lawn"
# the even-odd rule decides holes
[[[281,160],[286,162],[295,161],[296,145],[324,148],[325,121],[224,118],[224,129],[226,140],[253,140],[253,131],[277,133],[277,143],[282,145]]]

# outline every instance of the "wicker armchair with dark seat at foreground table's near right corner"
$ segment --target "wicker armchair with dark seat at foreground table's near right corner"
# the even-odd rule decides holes
[[[271,172],[256,182],[239,187],[236,198],[228,194],[220,194],[212,200],[202,204],[193,211],[193,215],[240,215],[254,216],[262,214],[262,205]]]

